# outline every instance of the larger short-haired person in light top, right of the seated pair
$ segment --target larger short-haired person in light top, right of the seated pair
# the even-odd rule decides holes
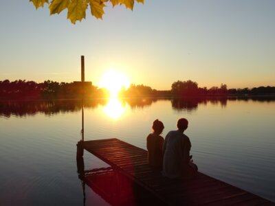
[[[177,128],[165,137],[162,174],[170,179],[192,179],[197,173],[197,165],[190,157],[190,139],[184,135],[188,128],[187,119],[179,119]]]

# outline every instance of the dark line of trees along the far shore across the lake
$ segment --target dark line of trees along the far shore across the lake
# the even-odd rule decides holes
[[[26,80],[0,81],[0,99],[58,99],[58,98],[104,98],[108,96],[107,89],[100,89],[92,84],[85,84],[79,87],[74,82],[54,82],[47,80],[41,83]],[[157,91],[144,84],[131,84],[129,88],[119,93],[120,97],[156,97],[156,96],[176,96],[194,97],[203,95],[275,95],[275,87],[254,87],[252,89],[228,89],[226,84],[220,87],[198,87],[197,82],[192,80],[177,80],[167,91]]]

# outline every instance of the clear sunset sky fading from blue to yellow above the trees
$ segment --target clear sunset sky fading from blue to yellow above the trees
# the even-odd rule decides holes
[[[275,86],[274,0],[144,0],[104,11],[74,25],[67,10],[50,16],[47,5],[1,0],[0,80],[77,81],[84,55],[96,86],[110,69],[157,90],[177,80]]]

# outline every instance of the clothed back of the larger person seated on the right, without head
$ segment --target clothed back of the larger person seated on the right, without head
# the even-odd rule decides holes
[[[171,179],[177,179],[183,176],[184,168],[189,160],[190,147],[189,138],[179,130],[170,131],[166,135],[162,170],[164,176]]]

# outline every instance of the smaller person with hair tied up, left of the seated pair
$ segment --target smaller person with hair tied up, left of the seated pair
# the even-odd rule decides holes
[[[163,161],[163,144],[164,138],[160,136],[164,130],[164,124],[155,119],[153,122],[153,133],[149,134],[146,139],[147,150],[148,150],[148,163],[151,166],[162,167]]]

